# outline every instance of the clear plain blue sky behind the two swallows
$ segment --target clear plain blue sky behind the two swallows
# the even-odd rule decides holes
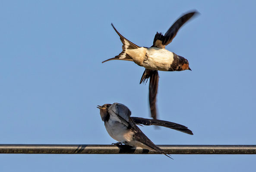
[[[97,105],[119,102],[149,117],[144,68],[101,61],[121,52],[111,27],[151,46],[181,14],[201,14],[166,49],[192,71],[160,71],[161,120],[194,135],[141,127],[155,144],[256,144],[255,1],[1,1],[0,143],[111,144]],[[137,169],[253,171],[255,155],[0,154],[4,172],[82,172]]]

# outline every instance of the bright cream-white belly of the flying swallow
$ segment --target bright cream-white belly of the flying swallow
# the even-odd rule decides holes
[[[173,53],[167,49],[151,47],[147,49],[146,55],[148,58],[142,64],[146,69],[168,71],[174,61]]]

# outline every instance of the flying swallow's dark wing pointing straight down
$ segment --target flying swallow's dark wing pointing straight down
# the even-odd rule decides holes
[[[158,90],[158,71],[152,71],[150,69],[145,69],[142,74],[140,84],[146,83],[149,79],[149,105],[151,111],[151,117],[157,119],[157,109],[156,109],[156,95]]]

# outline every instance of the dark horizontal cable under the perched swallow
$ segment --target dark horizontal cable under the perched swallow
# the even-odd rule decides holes
[[[157,145],[167,154],[256,154],[256,145]],[[159,154],[127,145],[0,144],[0,154]]]

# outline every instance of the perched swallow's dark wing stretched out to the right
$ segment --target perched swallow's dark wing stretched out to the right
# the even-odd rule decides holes
[[[186,126],[183,126],[177,123],[172,123],[172,122],[163,121],[163,120],[152,120],[152,119],[146,119],[146,118],[140,118],[140,117],[131,117],[131,118],[135,123],[139,123],[145,126],[151,126],[151,125],[164,126],[170,129],[175,129],[180,132],[184,132],[186,134],[193,135],[193,132],[190,129],[188,129]]]

